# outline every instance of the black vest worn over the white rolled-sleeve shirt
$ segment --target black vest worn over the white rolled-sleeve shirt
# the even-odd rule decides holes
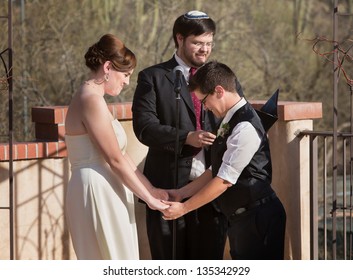
[[[222,157],[227,149],[229,135],[233,128],[243,121],[248,121],[255,127],[261,137],[261,144],[250,163],[240,174],[238,181],[216,199],[221,211],[227,217],[238,208],[273,193],[271,188],[271,155],[267,135],[260,118],[249,103],[246,103],[232,116],[228,122],[229,132],[223,137],[218,136],[213,143],[211,151],[212,176],[217,176],[222,164]]]

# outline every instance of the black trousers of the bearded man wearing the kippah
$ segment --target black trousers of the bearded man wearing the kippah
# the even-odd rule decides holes
[[[173,221],[146,207],[147,235],[153,260],[173,259]],[[209,203],[175,221],[177,260],[221,260],[227,237],[226,217]]]

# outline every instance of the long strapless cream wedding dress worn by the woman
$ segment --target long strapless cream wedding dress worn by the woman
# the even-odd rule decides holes
[[[125,131],[118,120],[112,125],[125,153]],[[139,259],[133,193],[113,173],[88,135],[66,135],[65,141],[72,172],[66,217],[77,258]]]

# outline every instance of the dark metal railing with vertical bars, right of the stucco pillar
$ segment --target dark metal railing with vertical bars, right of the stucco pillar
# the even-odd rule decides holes
[[[310,139],[311,259],[352,260],[353,134],[303,131],[300,136]]]

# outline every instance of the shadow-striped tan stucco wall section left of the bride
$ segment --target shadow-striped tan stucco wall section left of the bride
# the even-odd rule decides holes
[[[8,205],[8,163],[0,166],[1,205]],[[15,259],[74,257],[63,212],[67,178],[66,158],[14,162]],[[8,211],[0,213],[0,259],[9,259]]]

